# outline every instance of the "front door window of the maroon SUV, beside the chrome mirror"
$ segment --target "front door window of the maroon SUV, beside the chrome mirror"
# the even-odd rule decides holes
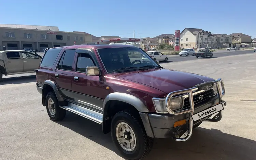
[[[86,72],[86,67],[95,66],[90,54],[79,53],[76,62],[76,71]]]

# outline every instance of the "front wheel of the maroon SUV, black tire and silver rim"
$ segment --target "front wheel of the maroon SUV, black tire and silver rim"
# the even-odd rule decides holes
[[[153,138],[147,136],[141,120],[127,111],[112,118],[111,137],[120,154],[131,160],[146,157],[153,147]]]

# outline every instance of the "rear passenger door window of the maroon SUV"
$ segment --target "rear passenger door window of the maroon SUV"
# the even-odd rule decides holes
[[[61,60],[62,57],[63,57],[63,60]],[[60,59],[58,68],[63,70],[71,70],[74,62],[74,57],[75,57],[75,49],[66,50],[65,53],[63,53],[62,57]],[[62,61],[62,64],[61,64],[61,61]]]

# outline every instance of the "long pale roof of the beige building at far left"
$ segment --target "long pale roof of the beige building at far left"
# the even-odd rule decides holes
[[[35,26],[35,25],[9,25],[9,24],[0,24],[0,27],[6,28],[23,28],[23,29],[38,29],[38,30],[51,30],[59,31],[58,27],[55,26]]]

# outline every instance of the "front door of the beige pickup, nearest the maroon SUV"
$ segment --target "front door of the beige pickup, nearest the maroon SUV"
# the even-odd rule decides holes
[[[26,51],[20,53],[22,54],[23,58],[24,71],[33,71],[34,69],[38,69],[41,58],[37,57],[35,54]]]

